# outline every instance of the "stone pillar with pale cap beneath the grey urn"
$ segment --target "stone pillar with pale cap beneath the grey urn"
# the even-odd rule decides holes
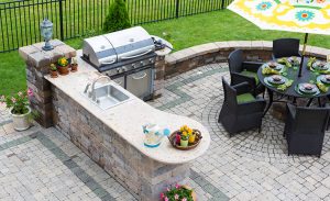
[[[51,41],[53,51],[42,49],[44,43],[24,46],[19,49],[21,57],[26,64],[28,87],[34,96],[30,98],[31,108],[38,112],[36,121],[44,127],[53,125],[53,107],[51,83],[44,79],[50,71],[50,65],[56,63],[61,56],[72,58],[76,56],[76,49],[58,40]]]

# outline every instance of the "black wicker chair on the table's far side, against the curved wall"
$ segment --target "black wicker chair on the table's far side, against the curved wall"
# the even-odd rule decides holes
[[[273,60],[282,57],[301,56],[299,53],[299,40],[279,38],[273,41]]]

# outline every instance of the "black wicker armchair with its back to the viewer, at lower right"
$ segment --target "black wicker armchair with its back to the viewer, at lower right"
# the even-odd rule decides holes
[[[287,104],[284,129],[288,155],[308,154],[321,156],[329,108],[300,108]]]

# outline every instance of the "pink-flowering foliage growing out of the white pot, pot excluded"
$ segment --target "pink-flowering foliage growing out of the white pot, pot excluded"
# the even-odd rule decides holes
[[[13,114],[26,114],[29,112],[29,97],[32,97],[31,89],[26,91],[19,91],[13,96],[1,96],[0,102],[6,103],[6,107],[11,110]]]

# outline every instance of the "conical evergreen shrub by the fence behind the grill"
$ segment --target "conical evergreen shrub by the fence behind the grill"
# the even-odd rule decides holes
[[[105,32],[116,32],[131,27],[129,13],[123,0],[114,0],[103,24]]]

